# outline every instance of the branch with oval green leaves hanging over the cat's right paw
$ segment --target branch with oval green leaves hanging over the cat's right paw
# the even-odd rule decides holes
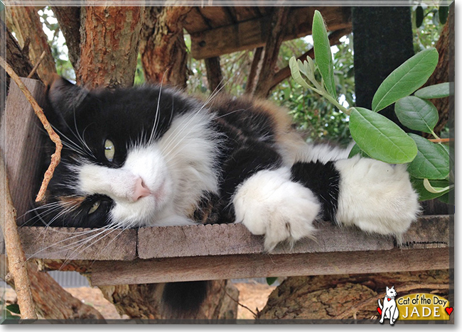
[[[362,107],[347,109],[338,102],[335,94],[332,53],[326,25],[319,11],[315,11],[312,31],[316,62],[310,57],[304,62],[291,57],[291,74],[302,87],[320,94],[350,116],[350,133],[356,143],[350,157],[359,153],[390,164],[407,163],[421,200],[441,197],[453,189],[449,176],[449,148],[434,133],[439,115],[428,100],[449,96],[450,84],[419,89],[436,69],[438,51],[435,48],[422,50],[394,70],[375,92],[372,110]],[[321,82],[316,79],[316,71],[321,74]],[[405,133],[396,123],[379,114],[392,104],[404,126],[430,133],[438,143]]]

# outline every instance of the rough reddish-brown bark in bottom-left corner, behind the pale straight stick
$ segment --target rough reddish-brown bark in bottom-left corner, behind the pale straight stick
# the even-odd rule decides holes
[[[39,271],[36,262],[28,261],[27,270],[36,311],[44,319],[104,319],[95,308],[72,297],[47,272]],[[1,279],[14,288],[14,280],[7,277],[8,264],[4,256],[0,258],[0,273]]]

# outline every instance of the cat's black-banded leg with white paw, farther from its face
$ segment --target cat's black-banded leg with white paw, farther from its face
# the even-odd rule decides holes
[[[362,231],[399,239],[420,211],[406,165],[359,156],[350,159],[296,162],[295,180],[315,192],[324,218]]]

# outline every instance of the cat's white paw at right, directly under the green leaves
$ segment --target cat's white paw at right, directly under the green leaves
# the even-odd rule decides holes
[[[389,165],[369,158],[338,160],[340,194],[338,223],[362,231],[400,238],[420,211],[419,196],[406,165]]]

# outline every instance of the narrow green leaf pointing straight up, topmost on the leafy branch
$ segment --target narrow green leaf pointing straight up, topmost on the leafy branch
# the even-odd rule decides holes
[[[331,44],[327,36],[326,24],[319,11],[314,11],[312,30],[314,59],[318,64],[318,69],[323,77],[327,92],[336,98]]]

